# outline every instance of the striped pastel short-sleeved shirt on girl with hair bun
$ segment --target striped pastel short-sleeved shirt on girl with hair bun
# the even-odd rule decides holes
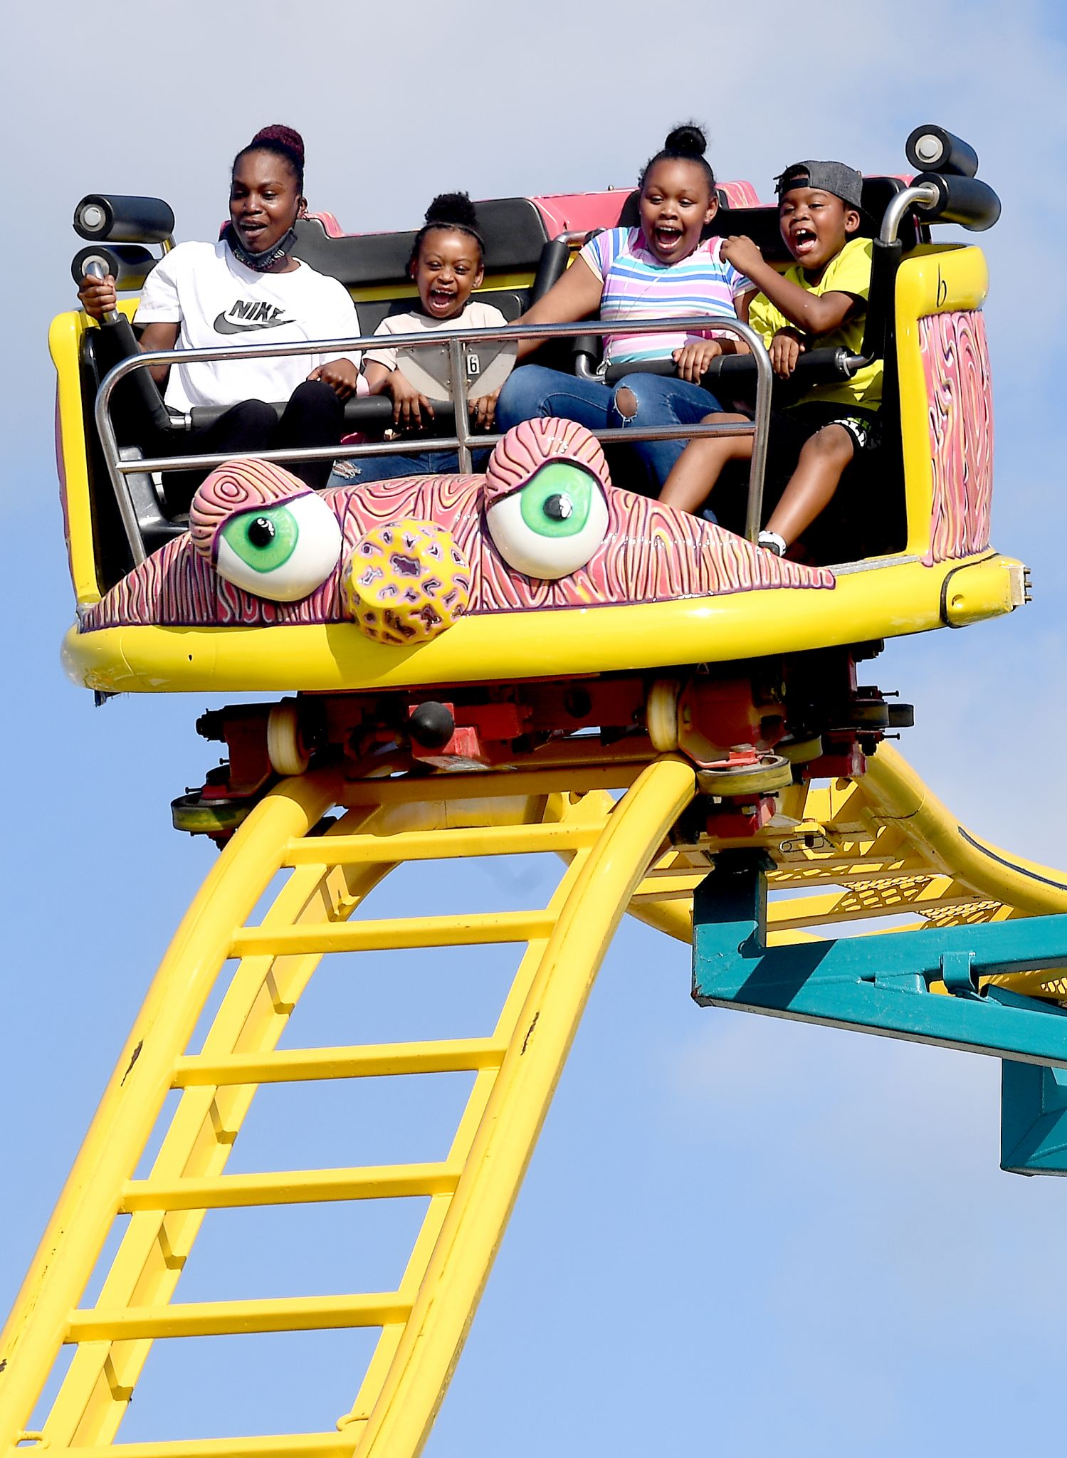
[[[663,264],[649,249],[640,227],[611,227],[590,238],[582,258],[603,283],[601,319],[736,318],[735,300],[755,284],[722,254],[722,238],[708,238],[676,264]],[[685,334],[615,334],[605,340],[605,364],[662,360],[714,330]]]

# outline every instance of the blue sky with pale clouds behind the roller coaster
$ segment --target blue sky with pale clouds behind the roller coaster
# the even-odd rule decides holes
[[[71,595],[45,334],[73,296],[70,214],[86,191],[159,192],[179,238],[213,236],[229,159],[274,120],[305,133],[312,206],[356,232],[410,226],[452,187],[491,197],[628,185],[689,115],[707,124],[720,176],[746,176],[765,197],[796,157],[902,169],[904,139],[923,121],[971,140],[1004,203],[984,239],[994,541],[1031,563],[1035,602],[892,644],[878,681],[915,703],[902,748],[974,830],[1067,859],[1060,7],[1015,4],[1009,28],[988,3],[773,0],[738,15],[684,0],[652,32],[633,0],[611,12],[577,3],[555,23],[424,0],[404,23],[395,15],[350,7],[305,23],[271,0],[252,15],[118,0],[90,20],[61,0],[7,20],[3,95],[20,140],[7,149],[0,399],[13,627],[3,1308],[214,856],[175,835],[168,815],[213,763],[192,729],[206,700],[93,710],[58,668]],[[544,878],[539,866],[472,866],[434,895],[519,905],[547,894]],[[386,884],[379,914],[405,886]],[[401,971],[324,971],[292,1041],[334,1041],[338,1022],[391,1035]],[[471,1031],[465,1019],[485,1018],[496,989],[488,967],[443,962],[418,1016]],[[433,1158],[458,1089],[410,1098],[396,1108],[366,1088],[264,1099],[233,1168]],[[1035,1354],[1066,1334],[1052,1238],[1064,1190],[1001,1175],[997,1145],[993,1060],[700,1012],[685,951],[624,927],[427,1454],[993,1454],[1058,1438]],[[206,1228],[179,1295],[359,1289],[392,1268],[408,1235],[343,1207],[315,1222],[297,1233],[292,1216],[259,1213]],[[360,1350],[345,1334],[297,1338],[284,1356],[270,1337],[157,1344],[122,1436],[329,1426],[354,1394]]]

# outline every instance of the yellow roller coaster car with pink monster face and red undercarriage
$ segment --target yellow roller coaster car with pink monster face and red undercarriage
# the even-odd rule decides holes
[[[230,767],[197,799],[187,828],[229,828],[236,805],[219,824],[211,815],[189,824],[204,796],[246,799],[313,754],[343,755],[350,773],[364,774],[681,748],[714,803],[743,811],[738,834],[770,814],[758,799],[783,776],[861,773],[863,752],[907,722],[907,710],[861,688],[856,662],[888,636],[962,627],[1028,596],[1023,566],[990,547],[985,261],[978,248],[929,241],[931,222],[988,227],[998,203],[974,175],[974,153],[940,128],[917,128],[907,150],[924,169],[910,185],[864,184],[878,236],[863,356],[816,350],[803,360],[808,381],[885,360],[885,480],[866,493],[863,519],[845,523],[851,551],[824,555],[825,566],[781,561],[625,490],[624,478],[612,484],[596,442],[570,424],[519,427],[487,477],[405,478],[316,497],[270,462],[223,467],[194,500],[192,521],[172,519],[149,471],[122,475],[102,453],[93,407],[117,357],[108,330],[79,312],[54,319],[77,598],[67,672],[101,694],[300,695],[201,720],[208,738],[227,741]],[[138,201],[152,204],[141,233]],[[96,208],[92,227],[86,204]],[[153,262],[144,242],[160,241],[165,226],[160,207],[86,200],[76,226],[80,217],[93,243],[76,274],[95,252],[120,287],[140,287]],[[481,203],[488,267],[480,297],[515,319],[592,229],[631,222],[634,210],[634,195],[621,192]],[[713,230],[748,233],[784,261],[777,210],[759,206],[748,184],[720,188]],[[367,334],[410,308],[411,233],[344,236],[328,214],[299,233],[299,257],[350,289]],[[134,308],[124,302],[124,315]],[[560,341],[548,348],[560,363]],[[589,367],[583,350],[579,370]],[[716,362],[742,373],[754,364]],[[144,370],[134,376],[147,381]],[[743,389],[740,379],[733,385]],[[356,401],[353,424],[382,424],[389,408]],[[230,486],[213,488],[222,478]],[[125,518],[115,506],[124,490]],[[434,579],[450,601],[423,593],[411,576]],[[372,580],[392,596],[376,596]]]

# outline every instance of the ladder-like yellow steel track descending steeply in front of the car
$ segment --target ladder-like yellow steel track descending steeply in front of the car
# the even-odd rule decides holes
[[[617,803],[608,786],[630,789]],[[376,1327],[380,1337],[335,1433],[118,1445],[152,1454],[401,1455],[421,1448],[488,1276],[603,951],[694,793],[675,758],[618,770],[449,776],[344,787],[306,776],[252,812],[208,875],[149,991],[0,1336],[0,1454],[32,1445],[114,1452],[152,1343],[163,1337]],[[322,812],[344,818],[313,834]],[[564,857],[547,907],[367,919],[395,865],[472,854]],[[246,919],[287,872],[258,926]],[[595,892],[593,892],[595,882]],[[525,951],[488,1038],[277,1050],[327,954],[421,946]],[[197,1053],[189,1040],[220,970],[232,978]],[[469,1072],[446,1158],[430,1163],[226,1174],[257,1088],[296,1080]],[[147,1177],[138,1162],[169,1091],[178,1104]],[[427,1198],[399,1286],[329,1296],[173,1301],[208,1210]],[[117,1217],[121,1241],[95,1303],[79,1306]],[[64,1344],[73,1360],[28,1432]]]

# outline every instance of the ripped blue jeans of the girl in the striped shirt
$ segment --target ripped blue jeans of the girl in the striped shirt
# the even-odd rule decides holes
[[[637,408],[624,416],[618,394],[630,389]],[[625,375],[615,385],[599,379],[580,379],[544,364],[523,364],[504,381],[497,401],[497,430],[510,430],[520,420],[561,416],[577,420],[589,430],[620,426],[695,426],[722,405],[700,385],[666,375]],[[641,440],[631,449],[641,459],[650,484],[659,490],[685,449],[685,440]]]

